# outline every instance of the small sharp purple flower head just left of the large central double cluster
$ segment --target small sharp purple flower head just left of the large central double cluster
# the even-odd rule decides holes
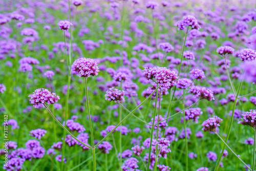
[[[110,88],[106,91],[105,100],[115,101],[115,102],[124,102],[124,91],[118,90],[115,88]]]

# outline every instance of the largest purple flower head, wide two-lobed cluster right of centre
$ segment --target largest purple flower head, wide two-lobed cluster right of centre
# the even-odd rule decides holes
[[[175,71],[171,71],[165,67],[145,68],[143,73],[147,80],[155,78],[158,86],[160,86],[160,90],[163,91],[173,87],[179,78]]]

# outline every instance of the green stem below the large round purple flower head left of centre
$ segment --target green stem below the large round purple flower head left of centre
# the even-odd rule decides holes
[[[92,119],[91,119],[91,114],[90,114],[87,78],[84,78],[84,87],[86,89],[86,106],[87,106],[87,114],[89,116],[89,124],[90,124],[90,131],[91,131],[91,137],[92,137],[93,170],[96,171],[96,157],[95,157],[95,148],[94,148],[93,125],[92,125]]]

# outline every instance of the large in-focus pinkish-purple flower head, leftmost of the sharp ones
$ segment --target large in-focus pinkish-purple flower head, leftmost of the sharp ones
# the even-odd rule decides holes
[[[59,96],[49,92],[47,89],[36,89],[33,94],[28,97],[30,97],[29,101],[33,104],[34,108],[39,108],[39,104],[54,104],[59,100]]]

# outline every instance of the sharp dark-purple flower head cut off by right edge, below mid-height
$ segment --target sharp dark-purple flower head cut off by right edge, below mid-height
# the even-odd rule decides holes
[[[239,124],[249,125],[254,130],[256,129],[256,110],[250,110],[242,114],[242,120],[238,122]]]

